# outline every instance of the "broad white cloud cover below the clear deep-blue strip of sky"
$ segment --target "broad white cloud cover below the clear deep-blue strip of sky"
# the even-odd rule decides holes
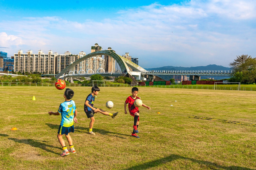
[[[152,65],[168,65],[157,59],[161,55],[170,63],[183,63],[180,66],[216,61],[219,63],[214,64],[228,66],[244,49],[247,51],[243,54],[256,53],[252,45],[256,38],[255,6],[252,0],[191,0],[181,5],[151,4],[119,11],[115,18],[97,22],[86,18],[85,22],[70,21],[60,16],[6,20],[0,21],[0,29],[6,34],[0,34],[5,37],[0,43],[59,53],[90,53],[90,46],[98,43],[103,49],[111,46],[119,55],[130,52],[140,61],[152,60]]]

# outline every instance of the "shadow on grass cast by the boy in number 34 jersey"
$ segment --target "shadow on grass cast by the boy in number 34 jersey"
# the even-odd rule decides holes
[[[33,147],[37,147],[37,148],[41,148],[47,152],[52,152],[54,154],[57,154],[59,155],[59,153],[56,153],[56,152],[53,152],[51,149],[47,149],[46,147],[49,147],[49,148],[58,148],[60,149],[60,147],[56,147],[56,146],[52,146],[52,145],[49,145],[49,144],[44,144],[42,143],[40,140],[34,140],[34,139],[16,139],[16,138],[8,138],[14,142],[18,142],[20,144],[29,144],[30,146],[33,146]],[[40,141],[40,142],[39,142]],[[43,141],[43,142],[46,142],[46,141]]]

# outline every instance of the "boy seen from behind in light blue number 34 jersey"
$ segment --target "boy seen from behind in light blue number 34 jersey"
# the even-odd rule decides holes
[[[49,115],[60,115],[61,114],[61,122],[60,127],[58,130],[58,140],[60,142],[60,145],[63,149],[63,152],[60,154],[60,156],[66,156],[71,153],[76,153],[76,150],[73,146],[72,138],[69,135],[69,132],[74,133],[74,123],[78,123],[76,119],[77,111],[76,111],[76,104],[72,99],[74,96],[74,91],[71,89],[66,89],[64,92],[64,98],[65,101],[60,104],[58,112],[48,112]],[[67,149],[67,146],[65,145],[65,142],[62,138],[63,134],[65,134],[68,144],[69,144],[69,150]]]

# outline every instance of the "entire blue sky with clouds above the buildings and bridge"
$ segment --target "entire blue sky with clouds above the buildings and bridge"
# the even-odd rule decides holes
[[[0,48],[89,54],[98,43],[129,52],[143,68],[228,67],[256,57],[255,0],[0,0]]]

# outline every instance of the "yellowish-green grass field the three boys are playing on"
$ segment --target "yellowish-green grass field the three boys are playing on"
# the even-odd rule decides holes
[[[256,169],[255,126],[189,118],[256,124],[255,91],[139,88],[151,110],[140,107],[137,139],[130,136],[133,117],[124,114],[131,87],[100,87],[95,107],[119,113],[115,119],[95,114],[95,136],[87,134],[90,119],[83,109],[91,87],[71,88],[79,122],[71,133],[76,153],[60,157],[61,116],[48,111],[57,111],[64,91],[0,87],[0,169]],[[108,100],[112,109],[105,107]]]

